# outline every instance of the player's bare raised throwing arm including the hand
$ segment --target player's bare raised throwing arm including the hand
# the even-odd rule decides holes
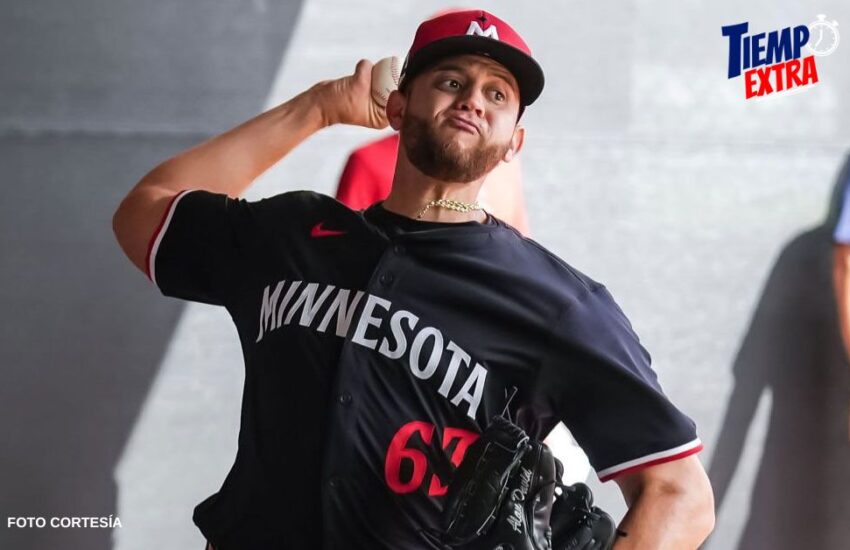
[[[148,172],[122,200],[112,218],[118,243],[143,273],[151,236],[168,205],[184,189],[237,198],[272,165],[325,126],[387,125],[371,99],[372,63],[354,74],[319,82],[289,101],[166,160]]]

